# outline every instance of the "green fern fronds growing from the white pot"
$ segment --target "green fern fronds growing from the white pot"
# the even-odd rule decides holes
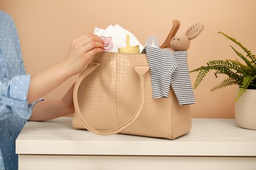
[[[236,101],[241,97],[241,95],[247,89],[256,89],[256,57],[255,55],[251,54],[250,50],[247,50],[245,46],[243,46],[240,42],[236,41],[233,37],[226,35],[223,32],[221,35],[230,39],[234,43],[236,43],[242,50],[244,50],[246,56],[241,52],[238,52],[233,46],[230,45],[232,50],[245,62],[241,63],[238,59],[224,59],[224,60],[213,60],[206,63],[205,66],[199,67],[198,69],[194,69],[190,71],[198,72],[198,76],[196,77],[196,81],[194,82],[194,89],[196,89],[200,83],[202,82],[203,78],[209,71],[215,71],[215,76],[217,77],[218,74],[227,75],[228,78],[224,79],[221,84],[218,84],[211,88],[211,92],[224,88],[226,86],[238,85],[240,90],[236,97]]]

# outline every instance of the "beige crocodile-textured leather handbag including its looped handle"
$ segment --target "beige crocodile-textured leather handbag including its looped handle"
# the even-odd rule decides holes
[[[149,69],[146,54],[96,55],[75,84],[73,126],[98,135],[175,139],[188,133],[190,105],[180,106],[173,90],[153,99]]]

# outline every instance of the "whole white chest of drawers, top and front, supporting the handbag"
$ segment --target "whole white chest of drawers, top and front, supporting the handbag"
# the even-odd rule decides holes
[[[256,169],[256,131],[234,119],[193,119],[175,139],[100,136],[72,118],[27,122],[16,140],[19,169]]]

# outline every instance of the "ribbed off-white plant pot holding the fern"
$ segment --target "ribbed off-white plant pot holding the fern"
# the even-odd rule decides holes
[[[238,99],[235,117],[240,127],[256,130],[256,90],[247,89]]]

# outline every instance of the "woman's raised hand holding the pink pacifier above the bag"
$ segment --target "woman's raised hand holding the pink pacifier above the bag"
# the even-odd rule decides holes
[[[103,52],[103,48],[104,42],[100,37],[87,33],[72,42],[70,50],[62,63],[71,75],[76,75],[95,54]]]

